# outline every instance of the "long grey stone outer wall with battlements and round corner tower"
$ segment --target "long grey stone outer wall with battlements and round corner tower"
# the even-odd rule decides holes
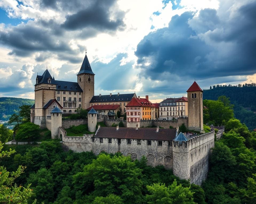
[[[94,134],[62,137],[65,150],[93,151],[96,155],[103,151],[109,154],[121,152],[125,156],[130,155],[132,159],[146,156],[149,165],[163,165],[173,169],[175,176],[201,185],[208,173],[210,149],[214,147],[214,131],[189,139],[182,143],[171,141],[170,145],[168,141],[162,141],[159,146],[157,140],[151,140],[151,145],[147,145],[146,139],[141,140],[141,144],[137,143],[137,139],[131,139],[131,144],[128,144],[127,139],[121,139],[121,143],[118,143],[118,139],[112,138],[109,143],[109,138],[94,138]]]

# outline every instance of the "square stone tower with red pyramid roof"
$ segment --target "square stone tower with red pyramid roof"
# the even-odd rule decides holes
[[[202,131],[203,130],[203,90],[198,86],[197,82],[190,86],[187,90],[188,100],[188,129]]]

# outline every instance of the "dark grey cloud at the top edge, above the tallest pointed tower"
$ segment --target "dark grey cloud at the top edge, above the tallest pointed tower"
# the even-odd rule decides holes
[[[124,12],[119,13],[117,19],[110,19],[110,8],[113,6],[114,2],[115,0],[94,1],[90,6],[77,13],[66,16],[66,21],[62,24],[62,27],[70,30],[87,27],[102,30],[123,29],[125,27],[122,20]]]

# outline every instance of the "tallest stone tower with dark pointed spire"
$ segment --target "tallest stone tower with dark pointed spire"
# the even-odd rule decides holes
[[[94,75],[87,55],[85,55],[81,69],[77,74],[77,82],[83,90],[81,107],[83,109],[90,107],[90,100],[94,96]]]

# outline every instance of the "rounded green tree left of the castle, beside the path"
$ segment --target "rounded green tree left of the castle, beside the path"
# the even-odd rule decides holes
[[[39,134],[40,127],[31,122],[26,122],[19,125],[19,128],[16,132],[15,139],[27,139],[30,141],[30,138],[36,137]]]

